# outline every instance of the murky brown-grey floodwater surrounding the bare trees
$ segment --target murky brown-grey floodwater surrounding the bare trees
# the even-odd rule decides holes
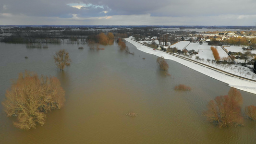
[[[57,77],[66,91],[65,107],[49,112],[44,126],[29,131],[15,128],[15,118],[7,118],[0,105],[0,143],[256,143],[256,123],[244,120],[242,127],[219,129],[203,115],[208,101],[227,95],[230,87],[171,60],[167,60],[171,74],[167,76],[159,70],[156,56],[126,45],[134,55],[121,51],[117,44],[97,51],[86,45],[48,45],[44,49],[0,43],[0,101],[11,80],[25,70]],[[78,49],[80,46],[85,49]],[[64,72],[52,58],[61,48],[72,60]],[[192,90],[174,91],[178,84]],[[256,105],[254,94],[240,92],[243,108]],[[129,112],[138,116],[129,117]]]

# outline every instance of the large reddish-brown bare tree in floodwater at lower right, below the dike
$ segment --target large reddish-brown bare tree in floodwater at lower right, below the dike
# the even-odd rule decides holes
[[[237,89],[231,88],[228,95],[217,96],[208,103],[208,110],[205,112],[207,120],[217,123],[220,128],[242,125],[242,102],[241,93]]]

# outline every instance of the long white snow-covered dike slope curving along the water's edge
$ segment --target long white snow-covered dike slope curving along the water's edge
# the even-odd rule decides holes
[[[160,51],[160,50],[152,50],[152,48],[143,46],[142,44],[135,42],[131,38],[125,38],[124,40],[133,44],[138,50],[141,50],[141,51],[149,53],[149,54],[156,55],[158,57],[163,56],[165,59],[168,59],[168,60],[174,60],[174,61],[179,62],[179,63],[183,64],[184,66],[187,66],[197,72],[201,72],[209,77],[212,77],[212,78],[217,79],[223,83],[226,83],[231,87],[235,87],[237,89],[256,94],[256,82],[252,82],[249,80],[243,80],[243,79],[240,79],[237,77],[232,77],[232,76],[226,75],[224,73],[209,69],[205,66],[195,64],[194,62],[190,62],[188,60],[183,60],[181,58],[172,56],[172,55],[170,55],[166,52]]]

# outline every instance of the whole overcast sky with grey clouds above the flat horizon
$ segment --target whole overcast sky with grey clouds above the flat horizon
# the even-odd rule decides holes
[[[0,0],[0,25],[255,25],[256,0]]]

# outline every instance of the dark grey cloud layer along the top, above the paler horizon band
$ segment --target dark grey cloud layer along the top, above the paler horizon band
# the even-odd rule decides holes
[[[102,8],[76,9],[68,3],[102,5]],[[151,16],[210,16],[220,14],[255,14],[256,0],[1,0],[0,13],[29,16],[84,17],[151,14]]]

